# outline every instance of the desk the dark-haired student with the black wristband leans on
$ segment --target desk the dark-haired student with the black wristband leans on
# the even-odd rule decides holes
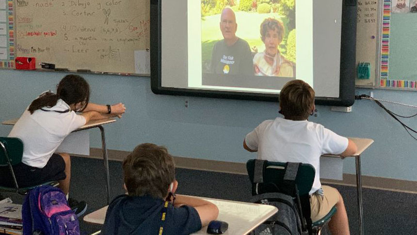
[[[2,124],[4,124],[4,125],[15,125],[17,120],[18,120],[18,118],[13,119],[13,120],[3,121]],[[108,156],[107,156],[106,138],[104,136],[104,127],[103,127],[103,125],[108,124],[108,123],[112,123],[112,122],[115,122],[115,121],[116,121],[116,119],[114,119],[114,118],[106,118],[106,119],[101,119],[101,120],[91,120],[88,123],[86,123],[85,125],[78,128],[77,130],[73,131],[73,132],[79,132],[79,131],[83,131],[83,130],[87,130],[87,129],[91,129],[91,128],[100,129],[100,132],[101,132],[101,146],[102,146],[102,150],[103,150],[104,169],[106,171],[107,204],[110,203],[110,173],[109,173],[109,159],[108,159]]]

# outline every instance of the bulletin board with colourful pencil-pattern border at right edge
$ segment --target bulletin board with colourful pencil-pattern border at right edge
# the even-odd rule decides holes
[[[381,76],[377,88],[417,91],[417,3],[384,0]]]

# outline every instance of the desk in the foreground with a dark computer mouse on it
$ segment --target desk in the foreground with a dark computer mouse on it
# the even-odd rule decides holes
[[[200,198],[200,197],[198,197]],[[278,209],[272,205],[255,204],[240,201],[200,198],[210,201],[219,208],[218,220],[229,224],[225,235],[244,235],[254,230],[259,224],[273,216]],[[84,221],[104,224],[107,206],[84,217]],[[207,226],[194,235],[207,234]]]

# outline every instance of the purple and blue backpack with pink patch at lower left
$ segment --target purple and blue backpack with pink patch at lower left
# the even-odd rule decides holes
[[[23,235],[80,235],[80,225],[61,189],[32,189],[22,206]]]

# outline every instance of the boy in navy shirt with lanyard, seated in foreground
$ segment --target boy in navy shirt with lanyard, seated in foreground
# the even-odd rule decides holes
[[[165,147],[138,145],[123,161],[123,171],[128,195],[110,203],[101,234],[188,235],[217,218],[213,203],[174,195],[175,163]]]

